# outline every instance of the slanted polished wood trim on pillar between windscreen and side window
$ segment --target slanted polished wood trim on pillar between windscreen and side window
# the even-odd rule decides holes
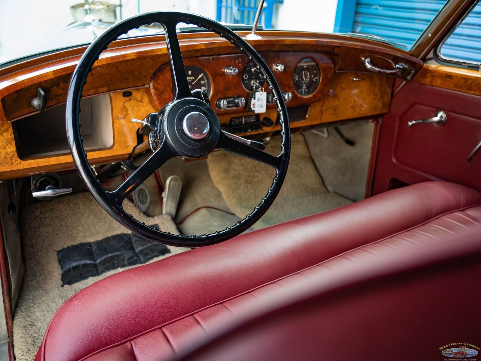
[[[443,38],[450,26],[475,2],[476,0],[448,1],[414,43],[411,48],[412,55],[418,59],[424,59],[434,45]]]

